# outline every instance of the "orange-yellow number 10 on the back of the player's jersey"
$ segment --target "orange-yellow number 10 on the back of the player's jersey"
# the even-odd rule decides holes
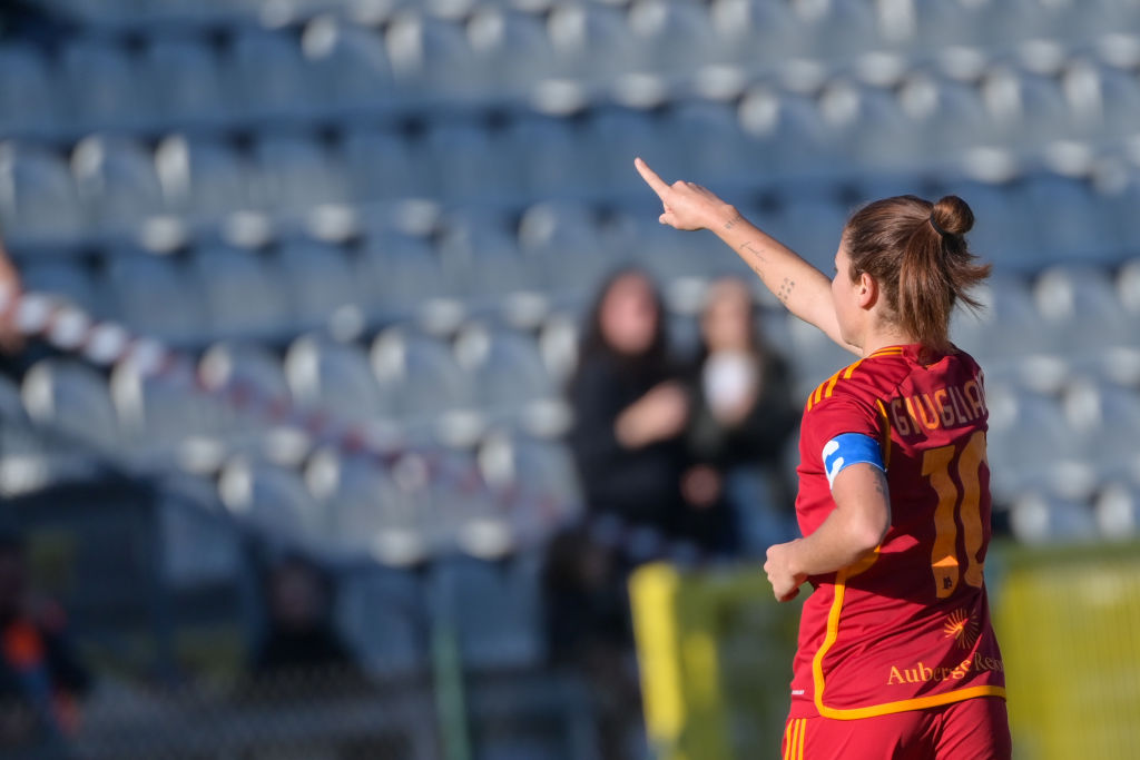
[[[938,507],[934,513],[935,538],[930,566],[934,569],[935,589],[939,599],[950,596],[958,588],[959,518],[966,548],[966,582],[982,588],[983,563],[978,561],[983,540],[979,508],[982,488],[978,477],[986,460],[986,434],[983,431],[974,433],[955,463],[956,452],[956,446],[943,446],[930,449],[922,457],[922,474],[930,479],[930,487],[938,495]],[[955,467],[958,472],[958,482],[962,484],[961,493],[950,476],[951,467]],[[955,507],[958,515],[954,514]]]

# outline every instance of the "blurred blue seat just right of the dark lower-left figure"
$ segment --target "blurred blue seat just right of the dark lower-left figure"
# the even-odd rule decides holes
[[[427,667],[430,630],[420,581],[369,567],[340,575],[336,623],[368,672],[409,676]]]

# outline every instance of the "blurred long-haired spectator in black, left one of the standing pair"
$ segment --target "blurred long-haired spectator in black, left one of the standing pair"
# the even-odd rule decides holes
[[[677,528],[689,414],[677,378],[653,284],[633,269],[611,276],[587,316],[570,383],[570,448],[592,513]]]

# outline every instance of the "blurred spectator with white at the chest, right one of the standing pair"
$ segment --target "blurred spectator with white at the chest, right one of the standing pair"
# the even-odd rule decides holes
[[[686,533],[712,550],[764,556],[795,530],[780,457],[799,412],[788,365],[765,345],[755,302],[739,279],[709,291],[689,382],[695,464],[682,480]]]

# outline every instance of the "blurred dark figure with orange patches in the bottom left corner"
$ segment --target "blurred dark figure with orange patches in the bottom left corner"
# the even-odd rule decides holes
[[[51,745],[79,728],[90,679],[64,637],[66,622],[30,593],[23,541],[0,536],[0,750]]]

